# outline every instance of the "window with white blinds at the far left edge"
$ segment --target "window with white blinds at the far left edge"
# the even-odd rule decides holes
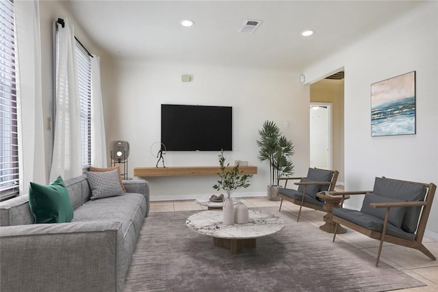
[[[18,194],[14,3],[0,1],[0,200]]]

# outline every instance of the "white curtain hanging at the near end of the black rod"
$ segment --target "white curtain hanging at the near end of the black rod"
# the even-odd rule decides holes
[[[82,173],[81,121],[73,25],[57,24],[55,58],[55,135],[50,180],[64,180]]]

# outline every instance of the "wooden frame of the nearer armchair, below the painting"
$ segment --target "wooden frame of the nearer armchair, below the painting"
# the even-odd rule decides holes
[[[383,177],[383,178],[385,178],[385,177]],[[396,182],[408,182],[410,184],[418,184],[421,186],[426,186],[426,188],[428,189],[428,191],[426,193],[426,197],[424,198],[424,201],[372,203],[372,204],[370,204],[370,206],[372,208],[386,208],[386,215],[385,215],[385,221],[383,223],[382,232],[368,230],[366,228],[363,228],[362,226],[357,225],[356,223],[352,223],[350,221],[347,221],[346,219],[342,219],[340,217],[333,215],[332,220],[336,222],[335,234],[333,234],[333,242],[335,242],[337,227],[339,226],[339,224],[342,224],[343,226],[346,226],[348,228],[351,228],[352,230],[360,232],[361,234],[364,234],[372,239],[377,239],[378,241],[380,241],[380,243],[378,245],[376,267],[378,266],[378,261],[379,261],[380,256],[381,256],[384,241],[386,241],[388,243],[394,243],[396,245],[411,247],[415,250],[419,250],[420,252],[422,252],[423,254],[428,256],[431,260],[436,260],[435,256],[431,252],[429,252],[429,250],[422,244],[422,241],[423,241],[424,232],[426,231],[426,224],[427,224],[427,220],[428,220],[429,213],[430,213],[430,208],[431,208],[432,203],[433,203],[433,197],[435,196],[435,191],[436,191],[437,186],[433,183],[423,184],[421,182],[409,182],[407,180],[395,180],[392,178],[385,178],[385,179],[394,180]],[[352,192],[333,191],[333,192],[330,192],[329,194],[342,195],[342,197],[344,197],[346,195],[364,195],[365,193],[372,193],[372,191],[352,191]],[[418,221],[417,232],[415,232],[415,240],[414,241],[410,241],[409,239],[402,239],[402,238],[397,237],[397,236],[392,236],[392,235],[386,234],[386,228],[387,228],[387,223],[388,223],[388,218],[389,218],[389,210],[391,210],[391,208],[396,208],[396,207],[409,208],[409,207],[415,207],[415,206],[423,206],[423,208],[422,208],[422,212],[420,215],[420,220]]]

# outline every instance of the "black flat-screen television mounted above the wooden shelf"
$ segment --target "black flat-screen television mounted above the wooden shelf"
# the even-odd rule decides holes
[[[162,143],[167,151],[231,151],[233,108],[162,104]]]

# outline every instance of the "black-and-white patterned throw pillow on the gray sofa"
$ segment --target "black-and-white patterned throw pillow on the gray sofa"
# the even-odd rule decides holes
[[[87,171],[87,180],[91,188],[90,199],[123,195],[124,192],[120,186],[119,176],[116,169],[107,172]]]

